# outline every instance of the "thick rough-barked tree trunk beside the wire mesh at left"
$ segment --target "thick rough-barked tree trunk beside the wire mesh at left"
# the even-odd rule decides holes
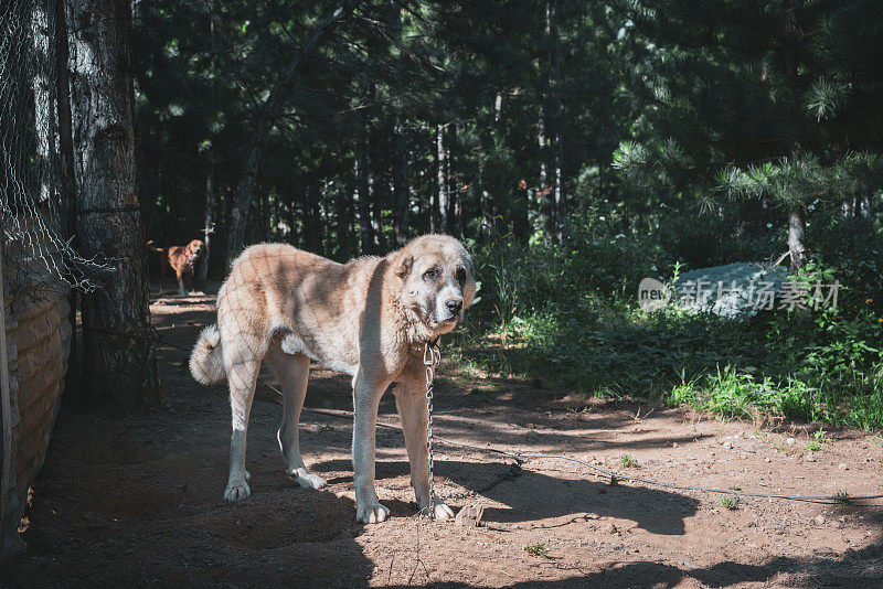
[[[81,398],[124,407],[161,399],[135,179],[135,95],[127,2],[70,0],[77,238],[115,267],[83,297]]]

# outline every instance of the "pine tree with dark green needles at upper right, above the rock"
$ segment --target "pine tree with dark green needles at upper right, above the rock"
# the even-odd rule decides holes
[[[616,153],[626,184],[702,204],[760,199],[785,213],[796,271],[807,215],[877,173],[879,2],[648,0],[615,4],[626,86],[641,107]]]

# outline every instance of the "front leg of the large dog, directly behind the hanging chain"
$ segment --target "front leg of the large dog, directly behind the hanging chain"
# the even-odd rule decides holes
[[[400,381],[393,389],[395,406],[402,418],[405,433],[407,458],[411,462],[411,486],[421,511],[429,507],[429,470],[426,448],[426,394],[422,387],[411,381]],[[433,505],[436,520],[454,517],[454,512],[444,501],[436,497]]]

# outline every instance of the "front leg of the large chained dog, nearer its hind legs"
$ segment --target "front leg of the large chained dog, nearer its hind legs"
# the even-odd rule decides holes
[[[390,510],[377,501],[374,489],[374,453],[380,398],[389,383],[379,383],[361,373],[355,377],[352,428],[353,483],[355,484],[355,520],[363,524],[383,522]]]

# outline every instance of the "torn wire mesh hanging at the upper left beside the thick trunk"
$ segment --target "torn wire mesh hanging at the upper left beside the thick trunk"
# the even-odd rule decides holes
[[[67,65],[58,46],[58,1],[0,3],[0,221],[8,306],[70,288],[94,290],[100,274],[110,270],[105,259],[78,255],[68,237],[75,206],[64,188],[60,150],[65,130],[58,69]]]

